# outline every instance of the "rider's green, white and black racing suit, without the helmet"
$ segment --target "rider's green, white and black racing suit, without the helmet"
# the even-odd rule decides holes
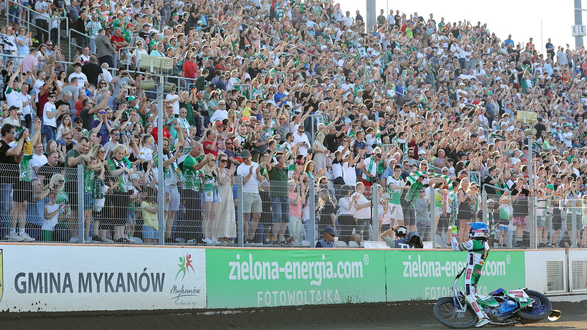
[[[457,238],[451,239],[451,247],[454,251],[468,251],[467,270],[465,270],[465,296],[467,302],[473,307],[479,319],[487,318],[487,314],[477,304],[477,282],[481,278],[481,270],[485,259],[489,254],[489,244],[483,240],[468,240],[465,243],[458,243]]]

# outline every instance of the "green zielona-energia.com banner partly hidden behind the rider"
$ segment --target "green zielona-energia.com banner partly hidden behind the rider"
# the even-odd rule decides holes
[[[457,251],[386,250],[387,301],[450,296],[450,286],[465,267],[466,258],[466,252]],[[524,264],[524,251],[490,251],[478,293],[525,287]],[[463,277],[458,286],[463,289]]]

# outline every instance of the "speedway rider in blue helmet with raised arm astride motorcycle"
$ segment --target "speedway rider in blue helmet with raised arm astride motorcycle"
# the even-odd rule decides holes
[[[477,304],[477,282],[481,278],[481,270],[485,264],[485,259],[489,254],[489,244],[487,243],[487,237],[489,235],[489,229],[487,224],[482,222],[468,223],[471,226],[469,231],[469,240],[465,243],[458,243],[457,235],[458,229],[456,226],[452,227],[452,238],[451,246],[454,251],[467,251],[467,271],[465,272],[465,295],[467,302],[471,305],[475,314],[479,318],[475,328],[484,326],[491,322],[487,317],[487,314]]]

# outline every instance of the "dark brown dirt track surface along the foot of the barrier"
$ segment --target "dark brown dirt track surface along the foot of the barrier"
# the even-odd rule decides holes
[[[553,302],[559,321],[516,328],[587,329],[587,301]],[[8,328],[11,327],[11,328]],[[431,304],[346,305],[264,311],[177,312],[167,314],[2,314],[1,329],[448,329],[432,314]],[[485,328],[495,328],[486,326]]]

